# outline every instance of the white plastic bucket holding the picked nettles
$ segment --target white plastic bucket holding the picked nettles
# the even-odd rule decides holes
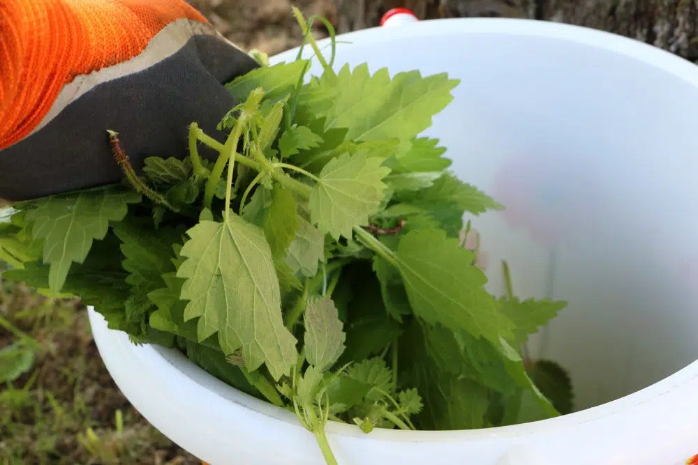
[[[416,22],[340,40],[351,44],[338,45],[338,67],[462,80],[427,134],[456,174],[509,206],[475,221],[491,289],[502,290],[507,259],[520,296],[569,300],[533,354],[570,369],[583,410],[464,432],[366,435],[333,423],[339,464],[678,465],[697,454],[698,68],[634,40],[528,20]],[[324,464],[292,413],[90,318],[119,388],[197,457]]]

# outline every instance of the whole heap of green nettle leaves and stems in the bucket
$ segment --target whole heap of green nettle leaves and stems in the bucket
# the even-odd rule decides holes
[[[327,420],[470,429],[570,411],[565,372],[519,353],[565,304],[484,289],[463,213],[501,206],[420,137],[458,82],[335,72],[298,18],[322,75],[301,54],[262,66],[227,85],[241,103],[225,140],[194,123],[185,160],[140,175],[119,160],[124,185],[6,210],[5,277],[80,296],[133,342],[295,411],[329,464]]]

